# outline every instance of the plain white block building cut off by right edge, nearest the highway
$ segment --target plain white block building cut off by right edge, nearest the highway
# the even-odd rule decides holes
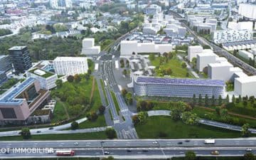
[[[256,76],[247,76],[241,78],[235,78],[235,93],[245,96],[255,96],[256,97]]]

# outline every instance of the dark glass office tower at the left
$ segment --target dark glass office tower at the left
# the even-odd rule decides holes
[[[24,73],[32,67],[31,57],[26,46],[14,46],[10,48],[9,55],[16,73]]]

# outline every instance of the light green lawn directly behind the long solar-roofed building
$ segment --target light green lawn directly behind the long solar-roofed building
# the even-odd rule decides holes
[[[159,67],[160,63],[160,58],[156,57],[154,58],[154,60],[151,60],[151,64]],[[188,69],[187,68],[181,68],[181,60],[178,60],[178,58],[174,57],[171,60],[168,61],[168,63],[164,63],[163,68],[171,68],[172,70],[172,74],[171,77],[175,77],[175,78],[187,78],[186,77],[186,73],[188,73]],[[156,72],[157,73],[157,72]],[[159,76],[159,74],[157,74],[157,76]],[[188,78],[191,78],[191,75],[189,75]]]

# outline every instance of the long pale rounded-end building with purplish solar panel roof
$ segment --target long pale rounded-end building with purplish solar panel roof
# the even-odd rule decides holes
[[[197,97],[202,95],[223,96],[223,80],[175,79],[175,78],[134,78],[134,92],[138,96]],[[159,92],[161,91],[161,92]]]

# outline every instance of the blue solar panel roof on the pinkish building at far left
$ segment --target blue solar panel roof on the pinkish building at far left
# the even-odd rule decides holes
[[[36,79],[35,78],[28,78],[24,80],[20,85],[14,88],[14,90],[11,90],[11,92],[4,95],[4,97],[1,98],[0,103],[20,103],[23,100],[14,99],[18,94],[20,94],[26,87],[31,85]]]

